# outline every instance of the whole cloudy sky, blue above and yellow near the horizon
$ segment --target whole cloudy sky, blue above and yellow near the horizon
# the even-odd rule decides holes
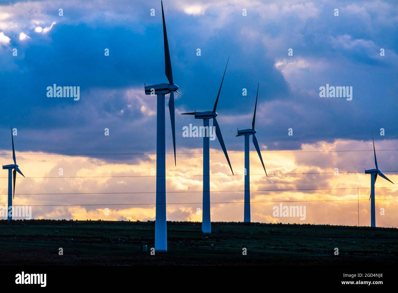
[[[211,142],[212,220],[243,219],[244,139],[235,135],[251,126],[259,83],[256,129],[269,177],[251,153],[252,220],[355,225],[359,187],[360,224],[369,225],[370,177],[344,172],[374,167],[373,129],[378,165],[398,182],[398,172],[387,172],[398,170],[396,2],[165,0],[164,8],[182,94],[177,166],[166,157],[168,219],[201,220],[202,141],[182,136],[201,121],[179,114],[213,108],[230,56],[217,120],[236,175]],[[17,163],[30,177],[18,177],[15,205],[36,205],[35,218],[154,219],[156,98],[144,83],[166,82],[163,52],[157,0],[2,1],[0,158],[12,162],[12,123]],[[53,84],[80,87],[80,100],[47,97]],[[352,100],[320,97],[326,84],[352,87]],[[166,109],[172,152],[169,120]],[[377,180],[377,225],[398,226],[394,186]],[[273,217],[279,201],[306,205],[306,220]]]

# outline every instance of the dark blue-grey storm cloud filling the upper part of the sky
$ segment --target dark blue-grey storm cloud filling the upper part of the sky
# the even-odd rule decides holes
[[[213,108],[228,55],[217,107],[228,149],[242,149],[236,128],[251,126],[258,82],[256,129],[260,145],[268,149],[297,149],[338,138],[369,140],[371,128],[385,128],[386,138],[397,138],[397,9],[389,2],[362,3],[253,4],[247,18],[239,4],[203,1],[198,4],[203,13],[195,14],[189,1],[167,3],[174,80],[183,94],[176,96],[177,146],[201,147],[200,139],[182,137],[183,126],[201,125],[201,120],[179,113]],[[0,32],[11,41],[0,43],[0,147],[10,148],[13,123],[19,131],[18,151],[155,151],[156,98],[144,95],[143,84],[166,81],[160,4],[117,4],[15,3],[26,9],[34,5],[41,12],[34,18],[18,14],[11,4],[3,6]],[[333,16],[335,6],[338,17]],[[63,18],[58,7],[64,7]],[[150,8],[155,17],[149,16]],[[47,33],[34,31],[53,22]],[[19,40],[20,32],[30,38]],[[18,56],[12,56],[14,47]],[[294,51],[290,57],[289,48]],[[48,98],[46,88],[54,83],[79,86],[80,100]],[[319,87],[327,83],[352,86],[353,100],[320,98]],[[248,96],[242,96],[242,88]],[[105,128],[109,137],[103,135]],[[288,128],[293,136],[287,135]],[[166,140],[171,150],[167,108]],[[212,144],[219,148],[218,142]],[[134,160],[123,157],[129,158]]]

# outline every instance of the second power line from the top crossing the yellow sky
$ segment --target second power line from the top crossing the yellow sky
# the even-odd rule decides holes
[[[383,171],[384,173],[387,172],[398,172],[397,171]],[[311,173],[271,173],[268,175],[314,175],[314,174],[335,174],[336,172],[311,172]],[[352,172],[338,172],[338,174],[355,174],[355,173],[364,173],[364,171],[352,171]],[[264,174],[250,174],[250,176],[263,176]],[[195,177],[195,176],[203,176],[203,175],[165,175],[162,177]],[[244,176],[244,174],[211,174],[209,176]],[[156,175],[123,175],[123,176],[43,176],[43,177],[21,177],[19,179],[44,179],[44,178],[135,178],[135,177],[154,177]],[[158,176],[160,177],[160,176]],[[0,177],[0,179],[8,179],[8,177]]]

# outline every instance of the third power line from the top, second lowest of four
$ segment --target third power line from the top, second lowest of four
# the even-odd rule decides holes
[[[375,187],[375,189],[382,188],[398,188],[398,187]],[[252,192],[259,191],[315,191],[315,190],[347,190],[355,189],[355,187],[342,187],[342,188],[314,188],[314,189],[261,189],[261,190],[250,190]],[[371,189],[371,187],[359,187],[359,189]],[[166,191],[166,193],[201,193],[203,191]],[[214,192],[244,192],[244,190],[216,190]],[[92,194],[145,194],[145,193],[156,193],[156,191],[136,191],[136,192],[88,192],[88,193],[16,193],[16,195],[92,195]],[[0,193],[0,195],[8,195],[8,193]]]

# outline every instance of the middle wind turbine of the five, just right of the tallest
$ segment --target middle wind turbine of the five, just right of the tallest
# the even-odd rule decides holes
[[[229,61],[229,57],[228,57]],[[224,151],[226,160],[228,161],[228,165],[231,168],[231,163],[229,161],[228,153],[226,152],[226,147],[224,144],[224,140],[222,139],[220,126],[217,122],[217,102],[219,101],[220,91],[222,87],[222,82],[224,81],[224,76],[226,72],[226,67],[228,66],[228,61],[226,62],[224,75],[222,76],[221,85],[219,89],[219,93],[217,94],[217,99],[214,104],[213,111],[205,111],[205,112],[190,112],[190,113],[182,113],[183,115],[195,115],[195,119],[203,119],[203,206],[202,206],[202,232],[203,233],[211,233],[211,221],[210,221],[210,155],[209,155],[209,119],[213,119],[213,126],[216,128],[217,139],[220,142],[222,151]],[[205,134],[207,130],[207,134]],[[232,171],[232,175],[234,175],[234,171]]]

